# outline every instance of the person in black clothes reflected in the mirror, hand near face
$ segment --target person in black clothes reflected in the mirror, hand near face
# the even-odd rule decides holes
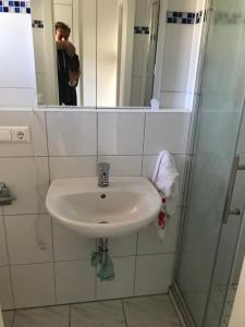
[[[79,80],[79,59],[75,47],[69,41],[71,28],[62,23],[56,23],[57,65],[59,84],[59,104],[77,106],[76,86]]]

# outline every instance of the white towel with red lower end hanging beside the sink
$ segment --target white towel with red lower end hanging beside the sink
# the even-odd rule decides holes
[[[161,240],[164,238],[166,223],[176,209],[179,193],[179,173],[171,154],[163,150],[159,154],[151,182],[157,187],[161,198],[162,207],[157,225],[158,235]]]

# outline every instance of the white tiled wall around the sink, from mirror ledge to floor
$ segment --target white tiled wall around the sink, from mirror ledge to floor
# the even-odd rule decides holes
[[[2,108],[3,109],[3,108]],[[171,283],[188,159],[189,112],[0,111],[1,125],[29,125],[29,144],[0,144],[0,180],[17,199],[0,215],[0,301],[4,310],[164,293]],[[90,265],[96,241],[77,237],[47,214],[56,178],[151,177],[157,155],[169,149],[180,171],[177,211],[160,243],[148,229],[110,240],[113,281]]]

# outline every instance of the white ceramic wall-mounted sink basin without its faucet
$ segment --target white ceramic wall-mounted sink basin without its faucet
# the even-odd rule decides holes
[[[134,232],[157,218],[161,198],[145,178],[58,179],[51,183],[46,207],[63,226],[87,238],[115,238]]]

